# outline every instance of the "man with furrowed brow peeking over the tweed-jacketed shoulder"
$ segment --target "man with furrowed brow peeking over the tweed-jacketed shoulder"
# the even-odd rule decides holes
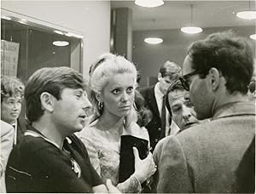
[[[172,115],[173,123],[177,128],[170,128],[170,134],[176,135],[186,128],[190,128],[199,123],[196,117],[194,106],[189,98],[189,92],[183,88],[182,83],[177,80],[168,88],[166,93],[166,107]]]

